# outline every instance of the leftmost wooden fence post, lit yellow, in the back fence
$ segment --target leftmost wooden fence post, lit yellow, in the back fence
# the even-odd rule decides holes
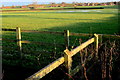
[[[19,27],[16,27],[16,38],[17,38],[18,50],[20,55],[22,56],[21,31]]]

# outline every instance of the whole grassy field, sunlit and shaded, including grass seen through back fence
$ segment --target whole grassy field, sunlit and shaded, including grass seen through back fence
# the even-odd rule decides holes
[[[69,30],[74,33],[88,34],[114,35],[119,33],[118,9],[113,8],[97,10],[13,11],[3,12],[0,15],[2,17],[2,28],[15,29],[16,27],[20,27],[21,30],[53,32]],[[2,38],[16,39],[16,34],[15,32],[3,31]],[[85,41],[88,39],[88,37],[70,37],[70,45],[79,45],[79,38],[85,39]],[[22,33],[22,40],[51,42],[54,44],[64,43],[63,36],[51,34]],[[28,55],[23,57],[22,67],[33,68],[36,66],[35,68],[39,69],[63,55],[62,52],[65,48],[57,48],[56,50],[59,53],[50,54],[54,52],[54,47],[56,46],[23,44],[23,53]],[[18,56],[14,54],[17,53],[16,49],[16,43],[3,41],[3,53],[8,54],[3,54],[3,62],[5,64],[11,65],[12,63],[12,65],[19,65],[21,63],[20,60],[17,60]],[[49,53],[42,54],[40,51]]]

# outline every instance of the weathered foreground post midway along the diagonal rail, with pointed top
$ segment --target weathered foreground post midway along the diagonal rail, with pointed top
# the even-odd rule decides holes
[[[65,67],[67,69],[67,73],[69,74],[68,79],[70,79],[71,67],[72,67],[72,56],[70,55],[70,51],[68,49],[64,50],[64,58],[65,58]]]

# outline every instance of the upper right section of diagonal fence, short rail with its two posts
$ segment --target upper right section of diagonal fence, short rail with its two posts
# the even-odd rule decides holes
[[[85,47],[87,47],[89,44],[92,44],[93,42],[95,42],[95,50],[96,50],[96,57],[98,54],[98,35],[94,34],[94,38],[89,39],[88,41],[82,43],[80,46],[76,47],[75,49],[73,49],[72,51],[69,51],[68,49],[64,50],[65,52],[65,66],[68,69],[68,73],[70,75],[75,75],[80,69],[81,69],[81,65],[78,65],[75,69],[71,70],[72,67],[72,56],[74,56],[76,53],[78,53],[79,51],[81,51],[82,49],[84,49]],[[85,63],[84,63],[85,64]]]

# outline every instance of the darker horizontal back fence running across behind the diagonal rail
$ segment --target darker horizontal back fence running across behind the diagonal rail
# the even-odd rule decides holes
[[[16,40],[8,40],[8,39],[2,39],[10,42],[17,42],[18,49],[21,52],[22,50],[22,43],[31,43],[31,44],[39,44],[39,45],[54,45],[53,43],[43,43],[43,42],[34,42],[34,41],[22,41],[21,39],[21,33],[46,33],[46,34],[55,34],[55,35],[63,35],[65,37],[65,44],[56,44],[57,46],[64,46],[66,49],[69,47],[69,37],[70,36],[93,36],[93,34],[84,34],[84,33],[70,33],[69,30],[64,30],[64,32],[50,32],[50,31],[33,31],[33,30],[21,30],[19,27],[16,29],[6,29],[2,28],[2,31],[14,31],[16,32]],[[103,34],[97,34],[99,36],[100,42],[102,42],[102,37],[112,37],[112,38],[120,38],[119,35],[103,35]]]

